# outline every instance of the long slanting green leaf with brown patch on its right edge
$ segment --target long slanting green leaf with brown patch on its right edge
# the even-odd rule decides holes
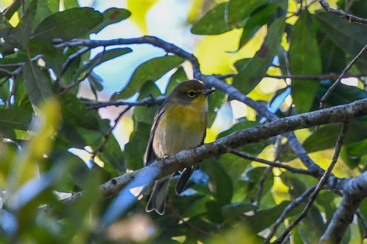
[[[241,93],[248,94],[254,89],[272,64],[283,36],[284,21],[285,18],[278,18],[269,26],[264,43],[254,57],[236,61],[238,74],[233,78],[233,86]]]

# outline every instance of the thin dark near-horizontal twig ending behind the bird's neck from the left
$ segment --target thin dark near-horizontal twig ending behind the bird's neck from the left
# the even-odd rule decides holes
[[[166,99],[166,96],[162,95],[159,97],[146,97],[140,101],[136,102],[128,102],[128,101],[108,101],[108,102],[89,102],[84,101],[83,103],[87,106],[88,109],[99,109],[107,106],[121,106],[121,105],[129,105],[129,106],[152,106],[152,105],[161,105],[163,101]]]

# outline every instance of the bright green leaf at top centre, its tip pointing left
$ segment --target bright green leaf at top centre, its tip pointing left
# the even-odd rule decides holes
[[[227,3],[219,3],[197,22],[191,28],[191,33],[199,35],[217,35],[235,28],[241,28],[247,22],[247,18],[239,19],[233,23],[229,23],[225,19]]]

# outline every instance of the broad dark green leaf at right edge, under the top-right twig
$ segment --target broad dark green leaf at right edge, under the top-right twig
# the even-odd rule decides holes
[[[333,13],[323,10],[315,12],[315,19],[321,30],[328,34],[331,40],[344,52],[356,56],[367,43],[367,26],[359,23],[350,23],[344,18],[340,18]],[[359,60],[367,62],[366,53]]]

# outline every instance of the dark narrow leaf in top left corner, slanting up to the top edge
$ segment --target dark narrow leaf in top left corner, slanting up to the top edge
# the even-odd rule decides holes
[[[29,8],[25,11],[22,18],[19,20],[17,27],[11,30],[8,37],[4,38],[5,43],[1,48],[2,53],[13,52],[14,48],[26,50],[28,41],[32,33],[34,16],[37,10],[37,0],[33,0]]]

